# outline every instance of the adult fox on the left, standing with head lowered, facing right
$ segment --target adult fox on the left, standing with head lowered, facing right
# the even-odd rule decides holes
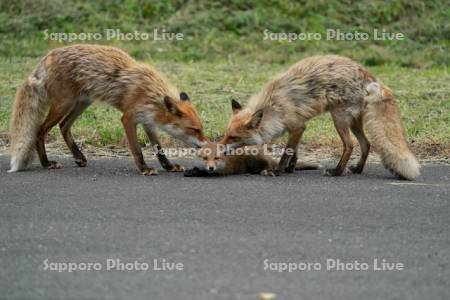
[[[49,161],[45,137],[59,124],[75,162],[86,166],[70,128],[94,101],[120,110],[130,152],[143,175],[155,175],[137,141],[136,127],[142,124],[158,159],[168,171],[184,171],[161,151],[156,130],[195,147],[206,141],[200,117],[186,93],[177,89],[149,65],[136,62],[124,51],[98,45],[74,45],[50,51],[18,89],[11,117],[11,169],[24,169],[36,148],[44,168],[60,168]],[[49,110],[43,121],[44,113]]]

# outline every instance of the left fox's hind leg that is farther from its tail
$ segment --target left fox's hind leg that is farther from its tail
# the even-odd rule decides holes
[[[61,130],[64,141],[66,142],[67,147],[72,152],[75,163],[79,167],[85,167],[87,164],[87,160],[75,143],[70,129],[75,120],[86,110],[86,108],[89,107],[89,105],[91,105],[91,103],[92,102],[88,99],[79,101],[72,109],[72,111],[61,121],[61,123],[59,123],[59,128]]]

